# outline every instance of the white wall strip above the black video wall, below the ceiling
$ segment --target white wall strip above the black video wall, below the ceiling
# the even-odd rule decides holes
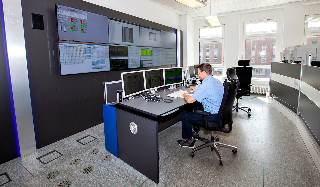
[[[149,0],[83,0],[112,10],[179,29],[180,16]]]

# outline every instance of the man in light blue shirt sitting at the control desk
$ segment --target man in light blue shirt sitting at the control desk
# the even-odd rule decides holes
[[[198,89],[190,88],[190,91],[194,91],[192,96],[188,93],[184,93],[182,96],[188,103],[199,101],[203,107],[196,107],[195,110],[204,110],[210,112],[207,120],[211,122],[218,122],[218,111],[221,105],[224,87],[222,83],[214,78],[211,74],[212,67],[208,63],[202,63],[198,67],[198,75],[202,80],[202,84]],[[178,140],[178,144],[182,147],[194,148],[193,138],[199,137],[198,132],[200,127],[194,127],[192,129],[191,120],[202,120],[202,116],[193,112],[185,113],[182,116],[182,138],[184,140]]]

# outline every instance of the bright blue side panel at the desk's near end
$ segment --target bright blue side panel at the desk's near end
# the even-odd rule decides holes
[[[118,141],[116,127],[116,108],[103,104],[103,125],[106,150],[118,157]]]

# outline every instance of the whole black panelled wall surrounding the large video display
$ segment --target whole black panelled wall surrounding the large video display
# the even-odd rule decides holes
[[[81,0],[28,0],[21,4],[37,149],[102,123],[103,82],[121,80],[121,72],[132,71],[61,76],[55,4],[174,31],[174,28]],[[44,30],[31,29],[30,13],[44,16]]]

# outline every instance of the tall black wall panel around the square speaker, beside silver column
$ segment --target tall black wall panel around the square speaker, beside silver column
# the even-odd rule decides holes
[[[60,140],[52,19],[49,1],[22,1],[31,106],[37,149]],[[37,5],[37,6],[35,6]],[[42,8],[39,8],[42,7]],[[31,29],[30,13],[44,15],[44,30]]]

